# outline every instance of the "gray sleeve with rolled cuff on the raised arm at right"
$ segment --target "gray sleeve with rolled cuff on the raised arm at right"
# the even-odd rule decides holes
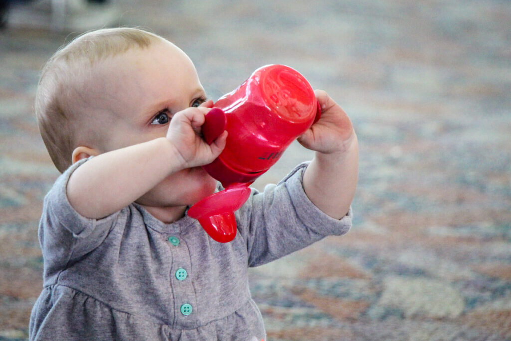
[[[352,209],[341,219],[319,210],[303,188],[308,164],[297,166],[262,193],[252,190],[238,212],[247,243],[248,265],[258,266],[304,248],[329,235],[343,235],[352,225]],[[245,227],[246,226],[246,227]]]

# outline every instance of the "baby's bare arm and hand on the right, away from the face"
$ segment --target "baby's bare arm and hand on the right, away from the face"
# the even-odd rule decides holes
[[[350,209],[358,178],[358,141],[342,108],[317,90],[321,119],[298,141],[316,155],[304,174],[304,189],[321,211],[340,219]]]

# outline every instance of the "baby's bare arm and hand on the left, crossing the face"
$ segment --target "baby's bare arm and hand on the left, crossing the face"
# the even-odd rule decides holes
[[[172,117],[167,137],[105,152],[80,166],[69,178],[67,196],[87,218],[103,218],[140,198],[170,174],[212,162],[225,146],[224,131],[208,146],[197,133],[206,107],[188,108]]]

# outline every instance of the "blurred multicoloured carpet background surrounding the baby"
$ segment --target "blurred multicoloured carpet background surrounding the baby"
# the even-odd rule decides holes
[[[287,64],[354,123],[351,232],[250,271],[268,339],[511,338],[510,1],[0,4],[0,339],[28,337],[42,287],[38,220],[59,173],[33,112],[41,67],[118,26],[177,44],[213,99]],[[311,157],[292,145],[255,186]]]

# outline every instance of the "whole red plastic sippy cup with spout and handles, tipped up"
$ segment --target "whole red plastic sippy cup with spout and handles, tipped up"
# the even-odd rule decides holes
[[[273,166],[286,148],[321,116],[314,90],[304,76],[285,65],[255,70],[233,92],[222,96],[205,116],[207,143],[227,130],[220,155],[204,170],[224,190],[196,202],[188,215],[214,240],[236,236],[234,211],[250,195],[248,186]]]

